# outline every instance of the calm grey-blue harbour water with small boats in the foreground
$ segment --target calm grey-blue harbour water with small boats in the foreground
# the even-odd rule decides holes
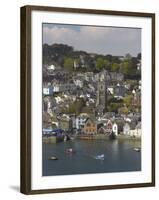
[[[74,140],[57,144],[43,144],[43,176],[126,172],[141,170],[141,153],[133,150],[138,141]],[[68,155],[67,148],[76,153]],[[94,157],[104,154],[104,160]],[[56,156],[58,160],[49,160]]]

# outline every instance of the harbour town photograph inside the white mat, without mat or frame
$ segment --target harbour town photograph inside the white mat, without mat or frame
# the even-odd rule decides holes
[[[42,31],[43,176],[141,170],[141,29]]]

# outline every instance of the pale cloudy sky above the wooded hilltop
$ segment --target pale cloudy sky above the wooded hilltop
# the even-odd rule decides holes
[[[43,44],[67,44],[88,53],[137,56],[141,52],[141,29],[43,24]]]

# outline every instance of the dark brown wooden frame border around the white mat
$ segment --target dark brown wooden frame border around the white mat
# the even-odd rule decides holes
[[[36,11],[54,11],[63,13],[87,13],[98,15],[116,15],[131,17],[149,17],[152,19],[152,162],[151,162],[151,182],[118,184],[118,185],[101,185],[89,187],[72,187],[58,189],[32,190],[31,188],[31,12]],[[155,186],[155,14],[140,12],[125,12],[112,10],[94,10],[64,7],[47,7],[47,6],[24,6],[20,10],[20,192],[23,194],[45,194],[61,192],[79,192],[106,189],[124,189],[137,187]]]

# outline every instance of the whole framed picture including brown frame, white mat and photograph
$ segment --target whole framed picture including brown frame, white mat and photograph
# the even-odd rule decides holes
[[[21,8],[21,192],[155,185],[155,15]]]

